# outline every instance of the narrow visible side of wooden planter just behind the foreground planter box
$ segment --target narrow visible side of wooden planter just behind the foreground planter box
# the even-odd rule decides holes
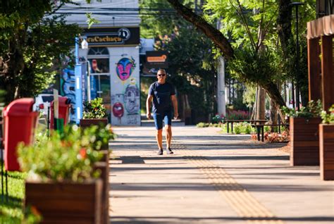
[[[109,220],[109,163],[104,161],[94,165],[95,170],[100,170],[102,180],[102,201],[101,201],[101,223],[110,223]]]

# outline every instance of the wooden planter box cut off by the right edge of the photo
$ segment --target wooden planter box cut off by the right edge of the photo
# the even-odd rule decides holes
[[[319,125],[320,177],[334,180],[334,125]]]

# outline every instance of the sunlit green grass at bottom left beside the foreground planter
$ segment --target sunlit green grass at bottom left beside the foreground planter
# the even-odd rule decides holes
[[[8,201],[4,196],[4,201],[0,203],[0,223],[22,223],[26,176],[26,173],[8,172]],[[6,194],[5,187],[4,182],[4,194]],[[0,185],[0,192],[1,188]]]

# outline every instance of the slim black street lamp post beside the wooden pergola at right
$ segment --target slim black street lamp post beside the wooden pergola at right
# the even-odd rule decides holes
[[[304,5],[304,2],[292,2],[290,6],[296,7],[296,108],[299,111],[299,37],[298,37],[298,6]],[[293,84],[292,84],[293,85]],[[293,94],[293,93],[292,93]]]

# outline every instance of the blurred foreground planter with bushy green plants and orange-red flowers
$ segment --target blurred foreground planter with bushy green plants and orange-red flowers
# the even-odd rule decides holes
[[[20,168],[28,173],[25,205],[37,209],[42,223],[101,223],[102,181],[94,169],[101,155],[91,138],[74,125],[18,147]]]

